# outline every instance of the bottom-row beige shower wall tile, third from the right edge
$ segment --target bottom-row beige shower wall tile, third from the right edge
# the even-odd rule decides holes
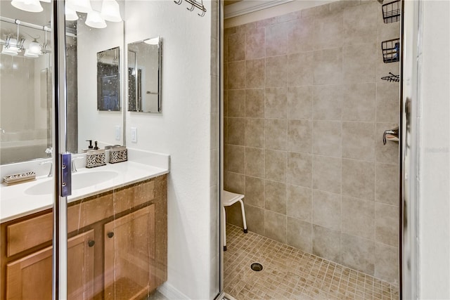
[[[318,225],[312,230],[312,254],[340,263],[340,232]]]

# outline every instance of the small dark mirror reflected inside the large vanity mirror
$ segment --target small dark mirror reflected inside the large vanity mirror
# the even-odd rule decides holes
[[[120,110],[119,47],[97,53],[97,110]]]

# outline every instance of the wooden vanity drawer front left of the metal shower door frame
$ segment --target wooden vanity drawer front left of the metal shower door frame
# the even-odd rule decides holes
[[[53,214],[44,214],[10,225],[6,228],[6,235],[8,256],[48,242],[53,237]]]

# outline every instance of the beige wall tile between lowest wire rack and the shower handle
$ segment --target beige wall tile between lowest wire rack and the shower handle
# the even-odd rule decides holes
[[[377,84],[377,122],[399,123],[399,85]]]

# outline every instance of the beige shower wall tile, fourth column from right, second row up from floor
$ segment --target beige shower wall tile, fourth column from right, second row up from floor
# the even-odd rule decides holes
[[[286,185],[286,210],[288,216],[311,223],[312,193],[311,188]]]

